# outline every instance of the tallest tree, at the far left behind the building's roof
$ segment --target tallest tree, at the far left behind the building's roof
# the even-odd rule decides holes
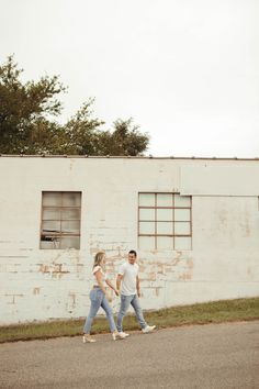
[[[52,131],[58,129],[48,121],[48,116],[60,113],[61,104],[55,98],[65,91],[58,77],[42,77],[40,81],[22,84],[22,69],[8,57],[0,67],[0,152],[5,154],[30,154],[37,152],[34,141],[48,138]],[[34,145],[34,146],[33,146]]]

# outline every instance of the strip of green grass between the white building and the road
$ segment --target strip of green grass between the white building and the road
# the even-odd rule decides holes
[[[259,297],[146,311],[145,319],[158,329],[259,320]],[[83,323],[85,319],[0,326],[0,343],[77,336],[81,335]],[[126,315],[123,324],[125,331],[139,329],[134,315]],[[98,316],[93,322],[92,333],[104,332],[109,332],[108,321],[105,316]]]

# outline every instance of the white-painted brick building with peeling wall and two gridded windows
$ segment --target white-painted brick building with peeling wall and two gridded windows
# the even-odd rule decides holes
[[[0,178],[0,324],[85,316],[99,249],[113,282],[138,252],[144,309],[259,296],[259,160],[1,156]]]

